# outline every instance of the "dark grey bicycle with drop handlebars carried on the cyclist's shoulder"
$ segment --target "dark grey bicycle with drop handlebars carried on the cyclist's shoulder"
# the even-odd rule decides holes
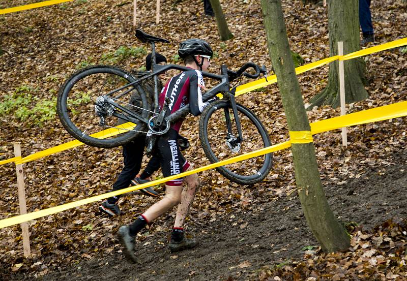
[[[169,43],[168,40],[154,37],[140,29],[136,30],[136,37],[142,43],[151,44],[151,74],[136,78],[118,67],[92,66],[74,73],[60,88],[57,114],[64,128],[75,139],[88,145],[109,148],[123,145],[140,134],[147,134],[152,136],[147,145],[149,152],[154,146],[155,138],[165,134],[171,122],[184,118],[189,113],[189,105],[186,105],[165,116],[165,104],[162,111],[159,110],[158,104],[158,74],[170,69],[189,69],[174,64],[156,64],[155,44]],[[254,69],[255,74],[246,72],[249,68]],[[203,95],[203,101],[208,101],[218,93],[223,96],[222,99],[211,102],[203,110],[199,120],[199,138],[211,163],[228,158],[230,153],[245,153],[271,145],[261,121],[250,109],[236,103],[236,86],[230,90],[229,84],[242,75],[255,79],[260,74],[267,77],[266,68],[260,68],[251,62],[244,64],[236,72],[227,69],[226,65],[221,66],[221,75],[202,72],[203,77],[219,81]],[[142,87],[142,83],[147,79],[154,79],[153,101],[148,101]],[[136,105],[129,103],[131,95],[137,97]],[[168,97],[165,103],[168,103]],[[127,122],[126,125],[130,126],[130,129],[117,126],[123,122]],[[101,128],[108,129],[99,132]],[[269,153],[244,162],[221,166],[216,170],[231,181],[254,184],[267,176],[272,160],[272,153]]]

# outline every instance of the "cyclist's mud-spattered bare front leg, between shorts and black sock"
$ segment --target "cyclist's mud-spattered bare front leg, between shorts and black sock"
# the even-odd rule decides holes
[[[189,167],[187,171],[192,170]],[[198,174],[192,174],[184,177],[184,189],[181,194],[181,204],[178,205],[177,216],[175,218],[174,227],[182,228],[185,223],[185,218],[189,213],[192,202],[194,200],[196,192],[199,190],[200,182]]]

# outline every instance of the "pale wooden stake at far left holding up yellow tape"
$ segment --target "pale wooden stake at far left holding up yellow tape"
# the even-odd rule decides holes
[[[14,155],[21,159],[21,145],[19,142],[14,143]],[[20,204],[20,214],[27,213],[27,207],[25,204],[25,189],[24,189],[24,174],[22,172],[22,164],[16,164],[17,172],[17,188],[18,188],[18,202]],[[31,256],[30,248],[30,234],[28,233],[28,223],[21,224],[22,231],[22,244],[24,248],[24,257]]]

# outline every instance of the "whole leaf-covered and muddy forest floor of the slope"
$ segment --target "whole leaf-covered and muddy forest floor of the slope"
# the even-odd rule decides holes
[[[0,9],[38,1],[0,0]],[[192,37],[211,43],[220,65],[237,69],[246,61],[271,69],[263,15],[258,1],[221,1],[235,38],[219,41],[216,21],[203,15],[201,1],[138,5],[138,27],[166,38],[158,51],[177,63],[178,44]],[[327,9],[283,1],[290,47],[305,63],[329,56]],[[375,44],[406,37],[405,2],[372,2]],[[182,16],[181,16],[182,15]],[[188,22],[186,22],[188,19]],[[185,22],[184,22],[185,21]],[[189,24],[193,22],[193,24]],[[0,160],[71,141],[55,116],[55,97],[65,79],[81,67],[114,64],[138,69],[148,47],[132,56],[120,47],[140,47],[134,37],[131,1],[75,0],[61,5],[0,15]],[[122,52],[119,52],[119,49]],[[365,58],[369,99],[347,106],[349,113],[407,100],[407,49]],[[304,102],[327,85],[328,66],[299,75]],[[210,86],[210,81],[207,82]],[[288,139],[276,84],[247,93],[239,103],[265,124],[273,144]],[[39,105],[36,107],[36,105]],[[40,110],[41,109],[41,110]],[[321,106],[307,111],[310,122],[338,116]],[[181,130],[192,147],[185,157],[196,167],[209,164],[199,144],[197,117]],[[328,202],[351,235],[344,253],[324,254],[306,223],[295,188],[289,149],[274,153],[267,178],[252,186],[230,182],[215,170],[202,181],[187,221],[196,248],[171,254],[167,241],[175,212],[159,218],[137,237],[138,263],[129,264],[115,233],[155,202],[127,196],[124,213],[109,219],[100,202],[30,221],[32,257],[22,255],[20,227],[0,229],[1,280],[405,280],[407,210],[407,122],[405,117],[314,136],[315,152]],[[147,159],[146,159],[147,161]],[[79,146],[24,164],[28,212],[104,194],[122,167],[121,149]],[[19,214],[14,164],[0,167],[0,219]]]

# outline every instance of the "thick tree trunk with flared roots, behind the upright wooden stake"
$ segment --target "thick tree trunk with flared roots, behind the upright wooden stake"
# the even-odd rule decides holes
[[[343,41],[343,53],[348,54],[360,50],[359,35],[359,2],[356,0],[328,1],[329,55],[338,54],[338,41]],[[353,103],[369,97],[366,84],[366,66],[363,58],[344,61],[345,71],[345,102]],[[313,97],[313,106],[340,105],[338,61],[329,65],[329,77],[326,88]]]

